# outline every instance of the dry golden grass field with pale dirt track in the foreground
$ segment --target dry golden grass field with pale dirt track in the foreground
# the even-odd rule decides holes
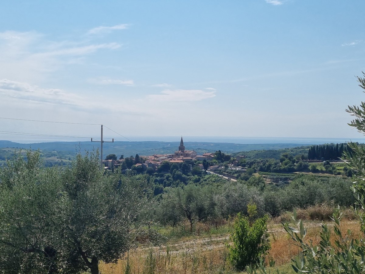
[[[177,274],[177,273],[240,273],[232,269],[227,262],[229,230],[232,222],[228,221],[219,228],[208,229],[200,224],[195,229],[194,235],[186,235],[184,228],[160,228],[160,233],[169,239],[161,246],[154,247],[146,244],[134,248],[116,264],[100,263],[102,274]],[[307,239],[319,243],[321,222],[306,221],[308,229]],[[333,224],[328,222],[329,226]],[[182,224],[182,227],[188,224]],[[187,229],[186,228],[186,229]],[[175,230],[174,230],[175,229]],[[272,262],[270,270],[276,269],[280,273],[295,273],[290,265],[290,260],[299,253],[298,247],[289,239],[281,224],[273,220],[268,225],[271,241],[271,250],[266,262]],[[346,220],[342,222],[343,231],[350,229],[354,237],[361,237],[362,232],[357,221]],[[182,234],[181,234],[182,233]],[[331,240],[335,236],[332,235]],[[242,272],[244,273],[244,272]],[[272,272],[273,273],[273,272]]]

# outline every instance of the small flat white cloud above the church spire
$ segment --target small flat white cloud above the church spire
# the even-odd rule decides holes
[[[161,94],[147,95],[148,99],[163,102],[201,101],[215,96],[215,91],[203,90],[164,90]]]

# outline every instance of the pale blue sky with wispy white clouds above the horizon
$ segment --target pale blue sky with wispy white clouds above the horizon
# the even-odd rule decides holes
[[[362,0],[1,7],[0,117],[102,123],[130,138],[362,136],[345,112],[364,100],[354,77],[365,70]],[[3,132],[99,136],[90,125],[0,125]]]

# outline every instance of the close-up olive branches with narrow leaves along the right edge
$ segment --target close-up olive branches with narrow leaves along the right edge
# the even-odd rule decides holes
[[[363,76],[365,76],[363,72]],[[365,78],[357,77],[359,86],[365,90]],[[353,106],[346,110],[354,116],[349,123],[359,132],[365,133],[365,103],[360,107]],[[349,167],[353,169],[355,181],[352,191],[355,197],[355,208],[358,215],[361,230],[365,233],[365,148],[363,145],[349,143],[349,150],[344,152],[343,158]],[[362,210],[360,210],[362,209]],[[322,224],[320,242],[318,246],[313,245],[306,239],[307,230],[303,222],[297,220],[296,212],[292,216],[290,223],[284,225],[284,229],[289,233],[294,243],[301,249],[301,253],[292,260],[292,267],[296,273],[365,273],[365,239],[354,239],[351,231],[343,231],[341,227],[342,212],[338,209],[333,214],[335,222],[333,232],[336,239],[334,243],[330,241],[330,229],[326,224]],[[266,273],[266,269],[261,261],[258,270],[247,269],[249,273]]]

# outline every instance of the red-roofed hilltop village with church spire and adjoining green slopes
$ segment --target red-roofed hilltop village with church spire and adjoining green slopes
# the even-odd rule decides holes
[[[181,137],[180,145],[173,154],[150,156],[136,154],[135,157],[121,155],[119,160],[115,154],[111,154],[104,160],[104,169],[114,171],[118,168],[123,173],[132,170],[135,171],[134,174],[146,172],[149,175],[173,170],[184,171],[183,174],[190,174],[189,176],[201,176],[213,172],[234,180],[239,178],[248,180],[255,172],[260,172],[256,175],[268,172],[267,175],[283,173],[288,176],[289,173],[304,172],[304,174],[351,176],[351,169],[343,166],[340,159],[345,151],[350,152],[346,144],[325,144],[277,151],[239,152],[233,155],[219,150],[197,155],[194,150],[185,150]],[[285,181],[288,182],[288,178]]]

